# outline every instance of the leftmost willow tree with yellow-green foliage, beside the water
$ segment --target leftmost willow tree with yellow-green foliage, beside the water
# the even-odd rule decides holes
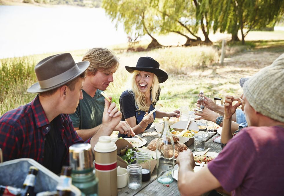
[[[159,32],[158,14],[150,6],[151,0],[103,0],[102,8],[110,19],[116,23],[116,28],[123,23],[124,31],[128,36],[136,37],[148,35],[152,42],[148,48],[161,47],[161,44],[153,37]]]

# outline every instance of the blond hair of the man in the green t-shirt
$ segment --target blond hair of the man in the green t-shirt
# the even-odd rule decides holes
[[[103,73],[114,73],[119,67],[119,58],[107,48],[92,48],[83,56],[82,61],[89,61],[87,75],[95,75],[99,70]]]

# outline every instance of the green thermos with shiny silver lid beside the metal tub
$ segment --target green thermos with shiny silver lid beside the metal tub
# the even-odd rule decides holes
[[[69,147],[69,159],[72,184],[84,195],[97,196],[98,179],[93,172],[92,146],[88,143],[73,144]]]

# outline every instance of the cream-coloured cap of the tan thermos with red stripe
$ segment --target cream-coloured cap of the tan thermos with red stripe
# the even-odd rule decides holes
[[[113,152],[116,149],[117,146],[112,142],[110,136],[101,136],[94,147],[94,151],[102,153]]]

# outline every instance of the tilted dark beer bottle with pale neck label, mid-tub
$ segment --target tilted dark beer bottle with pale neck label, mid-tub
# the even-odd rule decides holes
[[[29,173],[23,183],[23,188],[22,191],[20,193],[21,196],[34,196],[34,181],[35,181],[35,177],[37,175],[37,172],[39,171],[39,169],[37,169],[34,166],[31,166],[29,169]]]

